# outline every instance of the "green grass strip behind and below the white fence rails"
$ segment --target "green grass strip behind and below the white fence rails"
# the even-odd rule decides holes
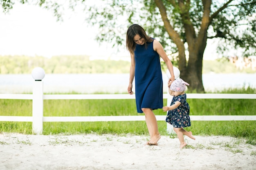
[[[217,93],[250,93],[256,89],[227,89]],[[256,99],[187,99],[191,115],[256,115]],[[166,104],[164,99],[164,104]],[[162,109],[155,115],[166,115]],[[0,115],[32,116],[32,101],[0,99]],[[137,113],[135,99],[44,100],[44,116],[117,116],[143,115]],[[228,135],[243,137],[256,145],[256,121],[192,121],[194,135]],[[168,135],[166,122],[158,121],[161,135]],[[0,121],[0,132],[32,134],[31,122]],[[148,135],[145,121],[107,122],[43,122],[43,134],[134,134]]]

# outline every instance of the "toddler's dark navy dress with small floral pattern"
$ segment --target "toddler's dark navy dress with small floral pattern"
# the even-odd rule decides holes
[[[165,121],[173,125],[174,128],[191,126],[189,117],[190,107],[186,102],[186,93],[184,95],[173,96],[171,105],[175,104],[177,101],[181,102],[180,106],[173,110],[169,110]]]

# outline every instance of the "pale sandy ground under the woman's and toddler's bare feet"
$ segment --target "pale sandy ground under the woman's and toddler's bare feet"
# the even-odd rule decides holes
[[[256,170],[256,146],[228,136],[0,134],[0,170]]]

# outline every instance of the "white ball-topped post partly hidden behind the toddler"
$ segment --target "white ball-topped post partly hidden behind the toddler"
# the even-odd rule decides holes
[[[174,73],[175,79],[180,78],[179,68],[173,66],[173,73]],[[171,73],[169,72],[168,69],[166,71],[166,75],[167,75],[168,79],[171,77]],[[169,94],[169,88],[167,89],[167,94],[168,94],[167,95],[167,106],[170,106],[173,96],[171,96]],[[168,111],[167,111],[167,113],[168,113]],[[167,115],[167,113],[166,113],[166,115]],[[173,130],[173,125],[168,124],[168,123],[166,123],[166,124],[167,124],[166,131],[168,132],[168,134],[171,134],[171,135],[175,134],[175,131]]]

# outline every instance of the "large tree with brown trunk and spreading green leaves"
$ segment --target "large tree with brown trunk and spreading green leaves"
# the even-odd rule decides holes
[[[4,11],[14,0],[0,0]],[[35,0],[61,18],[61,4]],[[20,1],[26,3],[27,0]],[[56,1],[58,2],[58,1]],[[190,90],[204,92],[202,61],[207,39],[219,39],[219,51],[256,51],[256,0],[71,0],[69,7],[84,6],[85,19],[100,29],[97,40],[125,43],[130,24],[143,26],[166,50],[177,54],[180,77]],[[79,3],[79,5],[77,5]],[[208,44],[209,45],[209,44]],[[218,81],[218,80],[213,80]]]

